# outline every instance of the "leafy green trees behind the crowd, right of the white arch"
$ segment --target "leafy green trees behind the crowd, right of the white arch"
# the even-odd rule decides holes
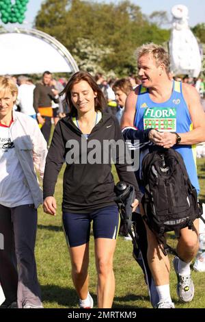
[[[83,55],[79,49],[76,52],[79,40],[90,42],[91,48],[94,46],[101,53],[109,49],[106,55],[101,54],[99,68],[118,76],[135,73],[134,53],[143,42],[161,44],[169,37],[169,32],[150,23],[139,6],[128,0],[46,0],[36,16],[36,28],[57,38],[79,59]]]

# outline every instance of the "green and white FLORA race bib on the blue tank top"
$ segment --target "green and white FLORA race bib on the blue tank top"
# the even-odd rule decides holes
[[[143,113],[143,129],[176,132],[176,108],[146,108]]]

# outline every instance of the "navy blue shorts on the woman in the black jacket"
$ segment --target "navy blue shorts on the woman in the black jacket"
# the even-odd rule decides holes
[[[120,227],[120,214],[115,205],[85,214],[63,212],[62,225],[68,246],[84,245],[90,240],[90,224],[93,221],[94,238],[116,239]]]

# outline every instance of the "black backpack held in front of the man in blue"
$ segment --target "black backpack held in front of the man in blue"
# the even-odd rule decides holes
[[[202,216],[202,206],[197,202],[182,156],[174,149],[148,153],[141,173],[145,187],[143,219],[166,249],[165,232],[174,231],[179,237],[182,228],[193,230],[193,221]]]

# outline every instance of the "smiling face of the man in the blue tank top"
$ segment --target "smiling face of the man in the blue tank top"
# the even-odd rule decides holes
[[[142,55],[137,62],[138,76],[141,79],[143,87],[149,88],[159,82],[159,76],[161,75],[161,65],[156,66],[156,62],[152,55]]]

